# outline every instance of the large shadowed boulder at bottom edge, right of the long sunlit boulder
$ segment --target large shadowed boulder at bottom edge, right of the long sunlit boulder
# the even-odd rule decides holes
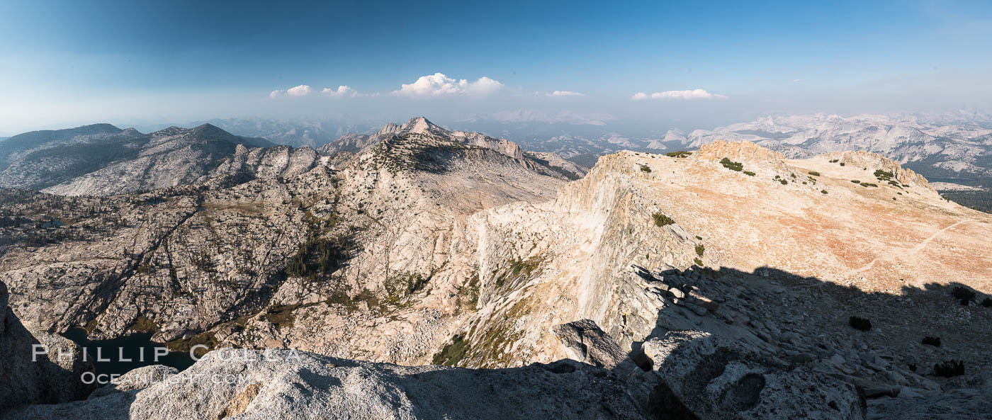
[[[854,385],[790,367],[700,331],[670,331],[642,347],[649,406],[672,418],[864,419]]]

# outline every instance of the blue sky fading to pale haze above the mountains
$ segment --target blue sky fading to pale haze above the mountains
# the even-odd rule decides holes
[[[369,3],[0,0],[0,134],[237,116],[527,109],[716,125],[992,109],[992,2]]]

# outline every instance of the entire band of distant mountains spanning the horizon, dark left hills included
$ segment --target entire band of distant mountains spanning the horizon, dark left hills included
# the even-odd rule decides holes
[[[622,150],[658,153],[698,149],[717,140],[746,140],[791,158],[874,152],[933,180],[992,185],[992,117],[981,113],[769,116],[687,133],[651,132],[639,125],[626,129],[621,128],[624,122],[607,118],[520,112],[457,123],[459,128],[494,133],[513,142],[420,120],[375,127],[334,120],[228,119],[150,134],[109,124],[37,131],[0,141],[0,187],[107,194],[203,182],[221,174],[218,171],[251,178],[259,170],[267,174],[302,170],[320,156],[339,162],[391,136],[418,130],[497,150],[507,143],[519,145],[529,157],[555,162],[549,165],[561,168],[567,177],[581,172],[582,166],[591,167],[598,157]],[[428,126],[419,126],[424,124]],[[239,145],[242,154],[276,145],[291,148],[234,158]],[[276,155],[268,156],[270,152]],[[279,160],[291,156],[295,156],[292,162]]]

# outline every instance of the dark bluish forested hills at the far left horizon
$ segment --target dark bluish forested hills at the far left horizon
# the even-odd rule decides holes
[[[210,177],[239,148],[274,146],[209,124],[151,134],[110,124],[37,131],[0,142],[0,187],[66,195],[161,188]]]

